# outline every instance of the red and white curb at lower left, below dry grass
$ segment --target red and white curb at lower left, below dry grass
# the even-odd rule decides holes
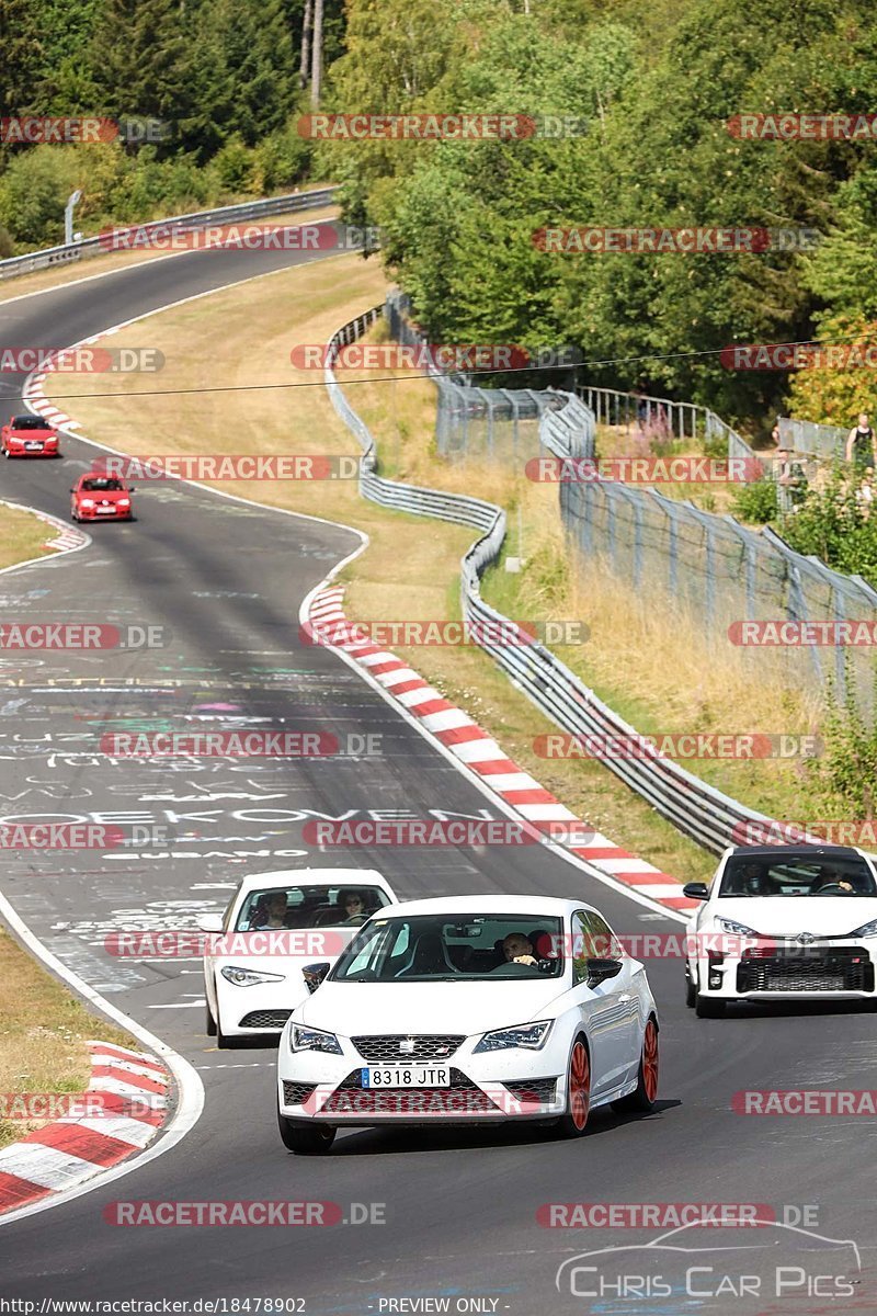
[[[70,1116],[0,1150],[0,1213],[75,1187],[153,1141],[168,1116],[170,1074],[143,1051],[88,1042],[89,1092],[118,1115]],[[131,1099],[139,1100],[131,1100]],[[137,1113],[122,1113],[134,1111]]]

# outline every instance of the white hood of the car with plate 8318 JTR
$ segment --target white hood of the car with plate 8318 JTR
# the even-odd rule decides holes
[[[526,1024],[550,1015],[563,979],[459,983],[321,983],[295,1012],[297,1023],[342,1037],[462,1033]]]

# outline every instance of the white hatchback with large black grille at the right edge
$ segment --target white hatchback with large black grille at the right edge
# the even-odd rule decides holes
[[[736,846],[722,855],[686,938],[686,1004],[717,1019],[731,1000],[877,1000],[877,873],[844,845]]]

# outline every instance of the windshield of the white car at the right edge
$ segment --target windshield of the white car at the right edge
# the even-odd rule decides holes
[[[870,869],[859,855],[747,859],[732,855],[721,896],[877,896]]]

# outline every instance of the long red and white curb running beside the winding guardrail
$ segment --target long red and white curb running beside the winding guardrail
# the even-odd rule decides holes
[[[577,824],[579,829],[585,829],[585,824],[565,804],[561,804],[551,791],[546,791],[534,776],[523,772],[488,732],[468,713],[444,699],[413,667],[380,645],[356,638],[352,630],[351,638],[344,638],[344,632],[351,624],[343,612],[343,587],[330,586],[318,590],[310,600],[308,619],[316,642],[321,642],[322,632],[327,647],[342,649],[366,667],[387,694],[392,695],[409,715],[418,719],[455,758],[477,772],[484,784],[527,822],[534,826],[571,822]],[[564,848],[580,859],[585,859],[604,876],[665,909],[697,908],[698,901],[684,896],[680,883],[669,873],[661,873],[644,859],[638,859],[600,832],[594,832],[586,845]]]

